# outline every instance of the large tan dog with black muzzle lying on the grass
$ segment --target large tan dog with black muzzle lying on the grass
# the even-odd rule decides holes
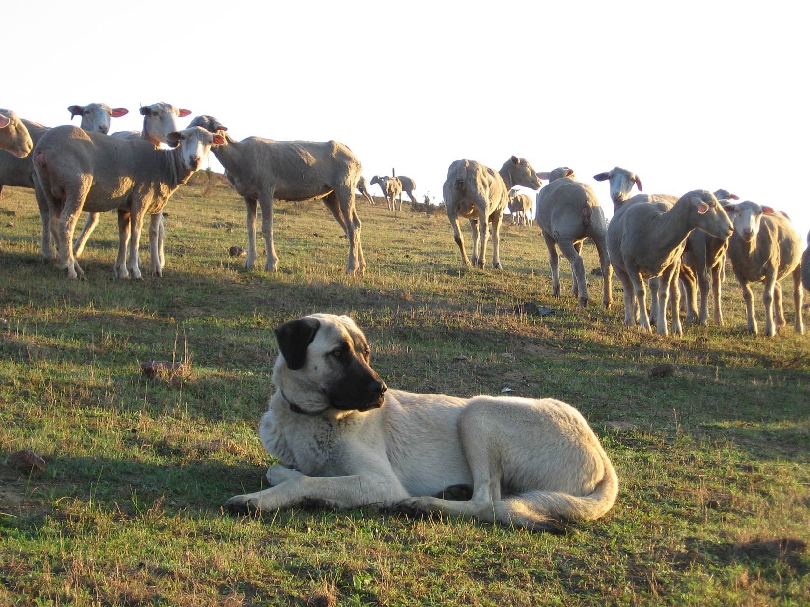
[[[348,316],[313,314],[275,334],[278,390],[259,436],[282,463],[267,470],[270,489],[232,497],[231,511],[398,507],[559,531],[616,501],[616,471],[564,402],[387,390]],[[470,485],[463,501],[424,497]]]

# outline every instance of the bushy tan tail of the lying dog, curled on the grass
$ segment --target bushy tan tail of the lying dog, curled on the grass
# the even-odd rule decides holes
[[[498,523],[530,531],[565,531],[565,520],[595,520],[616,502],[619,478],[608,454],[602,452],[604,475],[590,495],[569,495],[558,491],[526,491],[510,495],[495,504]]]

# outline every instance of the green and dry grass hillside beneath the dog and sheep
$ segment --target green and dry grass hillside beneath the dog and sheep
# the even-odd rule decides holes
[[[360,202],[364,278],[343,274],[323,206],[285,202],[280,271],[246,272],[227,253],[246,247],[241,199],[202,191],[168,204],[164,278],[143,282],[113,278],[112,214],[87,281],[68,282],[40,261],[32,193],[3,193],[0,462],[30,448],[48,468],[0,465],[0,605],[810,603],[810,337],[789,298],[771,339],[744,334],[733,279],[724,327],[642,334],[620,292],[599,307],[599,278],[589,308],[550,296],[537,227],[506,222],[507,270],[463,270],[441,210]],[[526,301],[556,315],[515,315]],[[577,406],[620,475],[616,506],[565,537],[372,510],[225,516],[270,463],[256,427],[272,329],[309,312],[351,314],[392,388]],[[145,380],[151,359],[190,359],[193,375]],[[651,379],[662,362],[676,376]]]

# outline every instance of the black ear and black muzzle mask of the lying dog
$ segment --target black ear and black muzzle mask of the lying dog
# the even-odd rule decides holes
[[[291,371],[300,371],[308,362],[315,368],[323,366],[324,400],[335,409],[368,411],[381,407],[385,401],[386,384],[369,366],[368,346],[357,352],[345,341],[337,342],[326,352],[308,350],[321,323],[314,318],[291,320],[275,329],[279,349]],[[364,340],[363,340],[364,341]],[[308,360],[313,357],[312,360]]]

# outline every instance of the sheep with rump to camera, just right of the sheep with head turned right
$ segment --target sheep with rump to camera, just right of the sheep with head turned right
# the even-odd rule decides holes
[[[560,268],[556,247],[571,264],[573,285],[571,293],[579,299],[579,305],[588,304],[588,286],[585,278],[585,264],[580,252],[582,243],[590,238],[599,251],[599,265],[602,267],[604,289],[602,304],[609,308],[612,300],[611,267],[606,243],[608,223],[593,189],[573,177],[568,167],[556,168],[552,172],[538,173],[550,183],[537,193],[537,223],[543,231],[548,248],[548,265],[552,270],[552,294],[560,296]]]

